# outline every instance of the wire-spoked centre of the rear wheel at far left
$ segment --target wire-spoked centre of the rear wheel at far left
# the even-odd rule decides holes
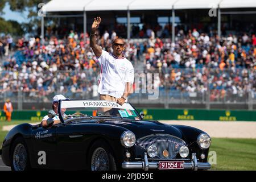
[[[13,167],[15,171],[24,171],[27,163],[27,151],[23,144],[19,143],[13,152]]]

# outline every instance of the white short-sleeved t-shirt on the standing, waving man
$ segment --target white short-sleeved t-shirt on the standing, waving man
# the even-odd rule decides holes
[[[98,61],[101,64],[98,93],[115,98],[122,97],[126,82],[133,84],[133,64],[125,57],[118,58],[104,50],[102,50],[101,56],[98,57]]]

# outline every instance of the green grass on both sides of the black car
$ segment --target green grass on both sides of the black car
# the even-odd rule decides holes
[[[2,126],[24,122],[31,121],[0,121],[0,146],[8,133],[2,131]],[[212,165],[212,170],[256,170],[256,139],[212,138],[209,151],[217,154],[217,164]]]

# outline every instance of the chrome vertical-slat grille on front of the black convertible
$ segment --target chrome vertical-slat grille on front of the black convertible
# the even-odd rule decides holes
[[[158,155],[156,155],[157,158],[173,159],[185,142],[180,138],[168,134],[152,134],[138,139],[137,144],[145,150],[154,144],[154,146],[158,148]]]

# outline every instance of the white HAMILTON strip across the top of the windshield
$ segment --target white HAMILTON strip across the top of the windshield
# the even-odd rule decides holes
[[[76,107],[111,107],[117,109],[134,110],[129,103],[122,106],[117,102],[112,101],[61,101],[61,108],[76,108]]]

